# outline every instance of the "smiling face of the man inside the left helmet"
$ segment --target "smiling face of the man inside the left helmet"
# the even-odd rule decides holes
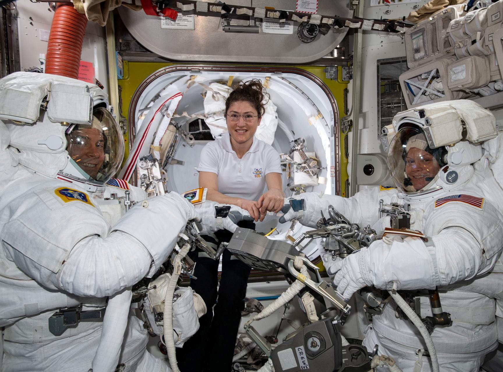
[[[75,163],[93,179],[105,160],[105,140],[100,130],[85,128],[67,136],[66,151]]]

